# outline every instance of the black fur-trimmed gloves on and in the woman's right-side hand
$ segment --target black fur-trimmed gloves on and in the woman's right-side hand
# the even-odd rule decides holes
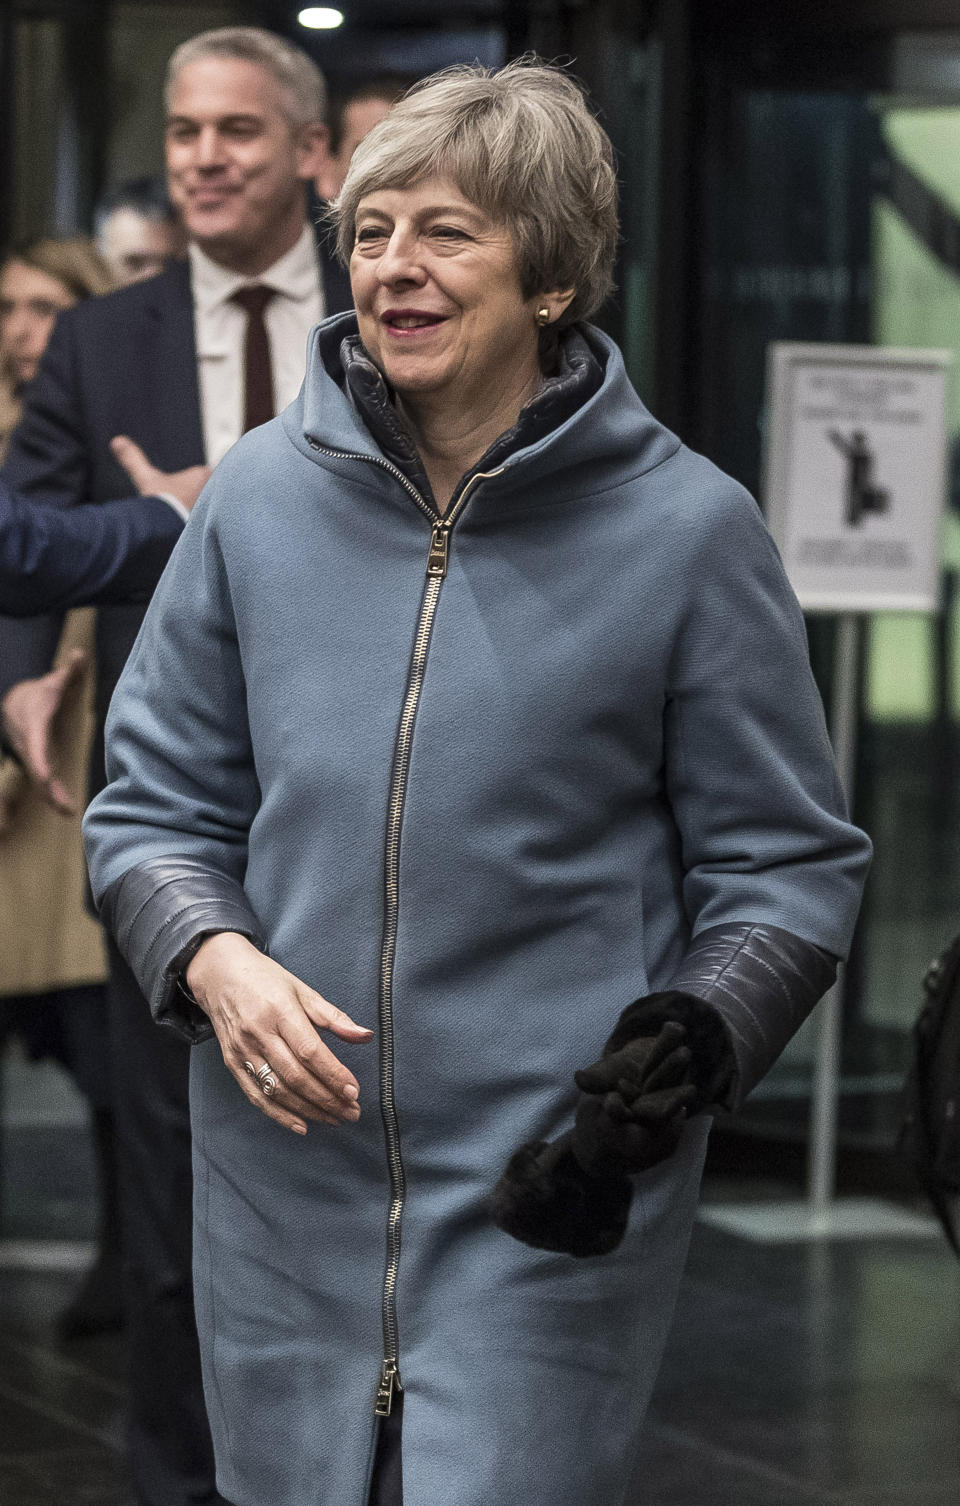
[[[624,1011],[603,1057],[576,1074],[585,1096],[574,1128],[509,1158],[491,1214],[523,1244],[576,1256],[615,1250],[630,1215],[628,1173],[675,1149],[698,1102],[693,1059],[686,1027],[656,1021],[645,1003]]]

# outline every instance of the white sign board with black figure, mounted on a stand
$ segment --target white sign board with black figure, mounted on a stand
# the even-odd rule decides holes
[[[775,343],[767,523],[806,611],[934,611],[949,351]]]

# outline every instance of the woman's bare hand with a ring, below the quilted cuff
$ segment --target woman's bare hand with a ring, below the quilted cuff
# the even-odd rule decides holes
[[[208,937],[187,967],[187,986],[217,1032],[223,1060],[252,1104],[286,1130],[306,1134],[307,1119],[353,1123],[360,1117],[356,1077],[316,1033],[369,1041],[357,1026],[285,967],[234,931]],[[268,1065],[277,1080],[271,1096],[250,1075]]]

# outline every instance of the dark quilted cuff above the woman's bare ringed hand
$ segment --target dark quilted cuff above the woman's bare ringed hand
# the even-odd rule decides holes
[[[182,977],[200,943],[220,931],[237,931],[261,952],[267,950],[243,884],[197,858],[157,857],[137,863],[105,890],[99,916],[157,1023],[191,1042],[212,1035]]]

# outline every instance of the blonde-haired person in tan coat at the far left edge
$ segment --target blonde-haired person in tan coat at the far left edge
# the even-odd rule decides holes
[[[86,236],[42,238],[0,262],[0,461],[20,422],[23,392],[36,375],[57,315],[112,289],[110,273]],[[93,611],[68,614],[57,666],[71,681],[57,721],[60,810],[20,767],[0,765],[0,1026],[23,1035],[32,1054],[53,1053],[90,1104],[99,1190],[99,1251],[60,1318],[66,1336],[119,1322],[116,1167],[107,1078],[102,931],[83,904],[80,809],[93,736],[93,687],[83,664],[93,645]],[[77,991],[69,992],[68,991]]]

